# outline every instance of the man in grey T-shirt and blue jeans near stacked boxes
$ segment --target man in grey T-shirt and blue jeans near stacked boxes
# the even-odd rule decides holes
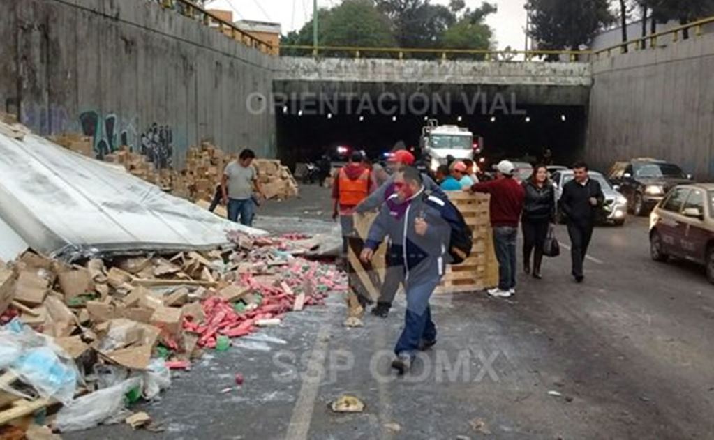
[[[258,194],[263,194],[258,184],[256,169],[251,166],[256,153],[246,148],[238,155],[238,160],[226,165],[221,180],[221,191],[223,193],[223,204],[228,208],[228,220],[238,222],[246,226],[253,225],[253,215],[255,215],[255,203],[253,203],[253,190]]]

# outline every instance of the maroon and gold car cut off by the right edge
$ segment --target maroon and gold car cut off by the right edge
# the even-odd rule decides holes
[[[650,214],[650,254],[705,265],[714,283],[714,183],[675,187]]]

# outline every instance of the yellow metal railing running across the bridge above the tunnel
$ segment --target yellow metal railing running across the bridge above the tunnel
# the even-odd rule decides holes
[[[301,45],[281,45],[283,51],[306,51],[313,56],[319,53],[347,53],[355,58],[360,58],[364,53],[381,54],[403,59],[409,55],[428,55],[434,58],[449,59],[470,55],[474,58],[481,58],[486,61],[508,61],[516,57],[521,57],[525,61],[543,56],[567,57],[570,61],[587,61],[591,51],[493,51],[489,49],[446,49],[446,48],[386,48],[386,47],[354,47],[354,46],[301,46]],[[284,52],[283,52],[284,53]],[[581,57],[585,57],[584,59]]]

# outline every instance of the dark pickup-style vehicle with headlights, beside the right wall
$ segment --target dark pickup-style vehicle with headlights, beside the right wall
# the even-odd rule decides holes
[[[609,177],[627,198],[628,211],[634,215],[647,215],[669,190],[692,182],[692,176],[678,165],[649,158],[615,163]]]

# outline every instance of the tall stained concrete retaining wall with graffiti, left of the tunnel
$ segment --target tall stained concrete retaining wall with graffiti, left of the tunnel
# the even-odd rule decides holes
[[[277,58],[156,1],[0,0],[0,11],[0,110],[36,133],[84,132],[104,153],[149,143],[164,165],[204,139],[276,155],[274,116],[246,99],[268,96]]]

